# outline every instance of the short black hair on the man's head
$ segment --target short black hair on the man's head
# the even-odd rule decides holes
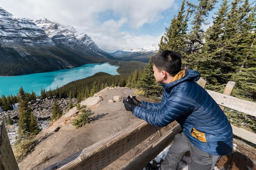
[[[181,70],[181,54],[171,50],[162,51],[153,57],[152,64],[155,64],[158,70],[164,70],[175,76]]]

